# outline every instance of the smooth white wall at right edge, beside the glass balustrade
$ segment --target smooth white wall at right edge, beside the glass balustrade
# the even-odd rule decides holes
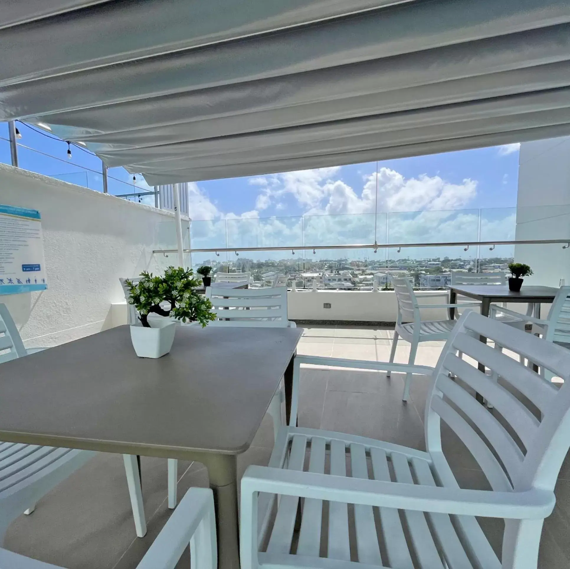
[[[516,239],[570,239],[570,136],[524,142],[519,154]],[[534,271],[526,284],[570,284],[570,248],[516,245],[515,261]]]

